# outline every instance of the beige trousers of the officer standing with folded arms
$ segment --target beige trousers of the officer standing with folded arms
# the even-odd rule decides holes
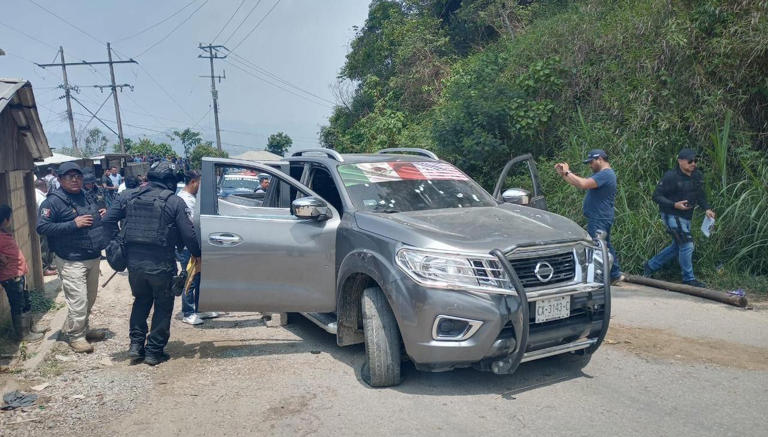
[[[96,291],[99,289],[98,258],[86,261],[68,261],[58,256],[54,258],[59,270],[64,299],[67,301],[67,321],[64,323],[64,334],[69,341],[85,339],[88,331],[88,316],[96,302]]]

